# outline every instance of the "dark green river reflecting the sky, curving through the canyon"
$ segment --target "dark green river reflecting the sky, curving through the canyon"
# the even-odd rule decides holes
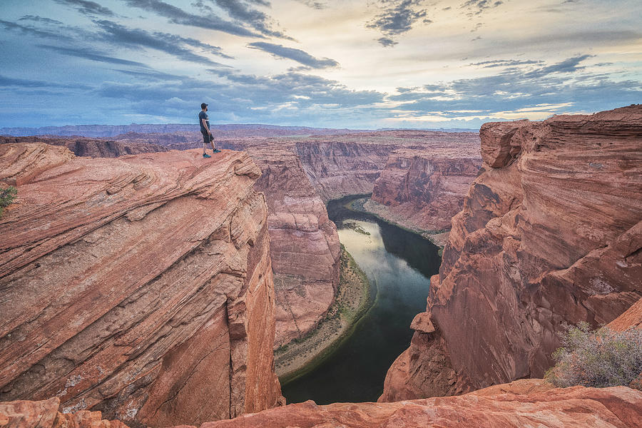
[[[388,368],[410,345],[412,318],[426,310],[429,277],[439,271],[436,245],[345,208],[354,199],[331,200],[327,211],[337,224],[339,240],[376,286],[372,287],[376,297],[332,355],[311,372],[282,385],[288,403],[377,401]]]

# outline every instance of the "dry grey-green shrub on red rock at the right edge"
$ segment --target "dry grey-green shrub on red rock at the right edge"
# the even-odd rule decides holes
[[[556,365],[546,379],[556,387],[628,386],[642,372],[642,330],[593,331],[586,322],[566,326],[562,347],[553,354]]]

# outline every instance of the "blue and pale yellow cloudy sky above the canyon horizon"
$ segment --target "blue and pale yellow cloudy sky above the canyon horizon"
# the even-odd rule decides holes
[[[640,0],[0,0],[0,127],[479,128],[642,103]]]

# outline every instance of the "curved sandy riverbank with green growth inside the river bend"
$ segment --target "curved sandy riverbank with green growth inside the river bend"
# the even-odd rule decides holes
[[[343,245],[340,269],[337,299],[325,320],[305,337],[275,350],[275,369],[281,383],[311,370],[330,355],[372,304],[370,282]]]

